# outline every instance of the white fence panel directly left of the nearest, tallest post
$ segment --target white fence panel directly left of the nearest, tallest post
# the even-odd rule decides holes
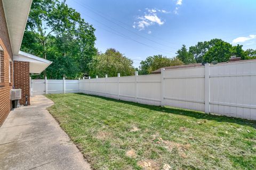
[[[164,104],[204,111],[204,67],[165,70]]]

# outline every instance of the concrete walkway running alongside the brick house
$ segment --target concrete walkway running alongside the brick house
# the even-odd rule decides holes
[[[31,98],[0,128],[0,169],[90,169],[83,155],[46,110],[53,102]]]

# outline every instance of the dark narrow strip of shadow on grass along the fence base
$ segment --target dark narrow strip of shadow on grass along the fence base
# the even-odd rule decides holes
[[[196,118],[196,119],[215,120],[216,122],[236,123],[239,125],[251,126],[253,128],[256,128],[255,120],[234,118],[234,117],[228,117],[228,116],[223,116],[223,115],[205,114],[202,111],[173,108],[173,107],[169,107],[169,106],[167,106],[167,107],[151,106],[151,105],[147,105],[147,104],[140,104],[140,103],[134,103],[134,102],[129,102],[129,101],[105,98],[103,96],[98,96],[98,95],[91,95],[91,94],[84,94],[84,93],[76,93],[76,94],[92,96],[94,98],[99,98],[99,99],[108,100],[108,101],[114,101],[114,102],[118,102],[118,103],[130,104],[132,106],[147,108],[147,109],[154,110],[154,111],[161,111],[161,112],[165,112],[168,114],[189,116],[189,117]]]

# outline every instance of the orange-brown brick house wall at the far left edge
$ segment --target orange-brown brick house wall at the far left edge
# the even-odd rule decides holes
[[[10,90],[13,85],[12,48],[7,30],[4,9],[0,0],[0,126],[11,110]],[[11,82],[9,82],[9,65],[11,65]]]

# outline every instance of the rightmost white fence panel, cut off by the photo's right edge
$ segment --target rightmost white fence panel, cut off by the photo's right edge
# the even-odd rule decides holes
[[[238,62],[210,67],[211,112],[256,119],[256,62]]]

